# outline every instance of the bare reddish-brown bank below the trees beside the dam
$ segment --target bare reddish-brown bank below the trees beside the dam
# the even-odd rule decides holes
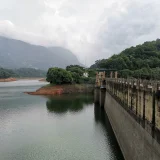
[[[61,94],[73,94],[73,93],[92,93],[94,89],[93,85],[55,85],[44,86],[35,92],[25,92],[30,95],[61,95]]]

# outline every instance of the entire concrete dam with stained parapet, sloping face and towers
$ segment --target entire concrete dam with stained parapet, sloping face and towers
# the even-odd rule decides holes
[[[126,160],[159,160],[160,82],[117,75],[97,72],[94,102],[104,108]]]

